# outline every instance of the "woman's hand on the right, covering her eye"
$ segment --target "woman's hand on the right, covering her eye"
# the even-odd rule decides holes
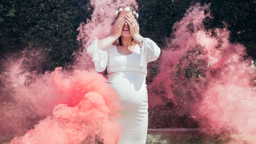
[[[131,36],[134,38],[134,35],[136,35],[136,34],[139,35],[140,26],[139,26],[138,22],[135,20],[134,16],[127,14],[125,18],[126,18],[126,22],[129,25]]]

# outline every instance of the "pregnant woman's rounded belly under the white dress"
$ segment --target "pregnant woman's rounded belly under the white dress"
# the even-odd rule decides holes
[[[121,105],[141,105],[148,100],[146,75],[134,71],[116,72],[108,75],[108,83],[119,94]]]

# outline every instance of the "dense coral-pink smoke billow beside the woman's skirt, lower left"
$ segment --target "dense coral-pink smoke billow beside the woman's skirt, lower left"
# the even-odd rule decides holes
[[[51,79],[55,93],[67,102],[55,106],[52,116],[11,143],[118,143],[121,129],[115,120],[121,105],[106,78],[85,70],[68,76],[56,68]]]

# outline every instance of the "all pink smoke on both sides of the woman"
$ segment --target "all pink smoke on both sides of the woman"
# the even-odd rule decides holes
[[[43,74],[34,59],[6,57],[6,73],[0,76],[1,102],[12,100],[15,106],[5,105],[0,121],[6,125],[1,132],[14,123],[10,133],[21,134],[28,127],[18,127],[28,119],[36,124],[11,143],[118,143],[121,129],[116,119],[122,111],[118,94],[93,70],[86,48],[94,37],[112,33],[119,7],[137,10],[138,5],[123,0],[93,0],[91,5],[91,20],[77,29],[85,50],[76,55],[69,70],[56,68]],[[245,59],[243,45],[229,42],[227,29],[211,32],[204,28],[205,17],[211,17],[209,7],[190,6],[185,17],[174,24],[172,38],[159,58],[159,73],[148,85],[149,104],[162,105],[163,97],[170,98],[174,108],[191,114],[201,127],[255,135],[254,62]],[[8,124],[10,119],[16,120]]]

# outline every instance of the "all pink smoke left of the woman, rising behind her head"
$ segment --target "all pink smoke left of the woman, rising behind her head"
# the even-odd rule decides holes
[[[46,117],[11,143],[118,143],[121,129],[116,120],[122,111],[118,94],[106,78],[93,70],[86,48],[94,37],[101,39],[112,33],[116,10],[126,6],[136,10],[138,6],[135,1],[123,0],[93,0],[91,5],[92,19],[77,29],[77,39],[85,50],[76,56],[70,70],[56,68],[53,72],[38,74],[38,68],[24,69],[25,65],[38,64],[25,56],[11,59],[12,65],[5,65],[8,76],[1,75],[1,79],[14,89],[11,98],[17,103],[26,101],[27,111]],[[9,113],[14,112],[6,111],[6,115]]]

